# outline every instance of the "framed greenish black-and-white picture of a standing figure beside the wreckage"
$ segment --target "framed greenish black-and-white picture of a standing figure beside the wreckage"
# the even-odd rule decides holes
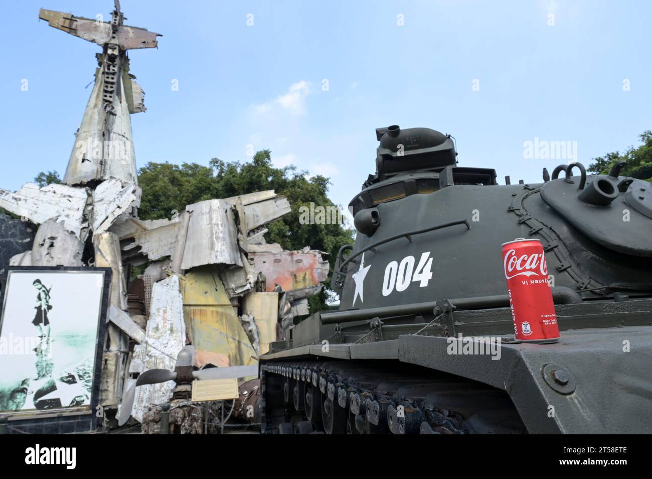
[[[0,280],[0,415],[91,414],[110,268],[9,267]]]

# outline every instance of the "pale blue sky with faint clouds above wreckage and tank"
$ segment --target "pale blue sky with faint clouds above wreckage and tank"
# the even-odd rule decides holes
[[[39,22],[38,9],[110,19],[112,5],[3,5],[0,187],[63,174],[100,51]],[[129,54],[146,92],[147,112],[132,115],[139,166],[244,161],[253,145],[329,176],[331,197],[348,204],[374,172],[377,127],[450,133],[460,166],[496,168],[500,183],[540,181],[544,166],[567,162],[527,159],[535,137],[577,142],[588,164],[652,129],[649,1],[121,5],[126,24],[164,35],[158,50]]]

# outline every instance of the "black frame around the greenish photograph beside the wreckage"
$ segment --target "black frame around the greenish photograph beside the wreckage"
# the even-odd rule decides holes
[[[11,273],[29,271],[37,273],[61,272],[64,273],[102,273],[102,294],[99,311],[99,320],[95,338],[95,363],[93,365],[93,384],[91,398],[87,410],[79,408],[48,409],[37,412],[0,412],[0,418],[6,417],[10,433],[82,433],[94,432],[102,425],[102,414],[98,413],[100,396],[100,377],[102,373],[102,354],[107,332],[107,314],[111,295],[111,268],[85,268],[70,266],[7,266],[0,271],[0,333],[2,333],[7,283]],[[86,408],[84,408],[86,409]]]

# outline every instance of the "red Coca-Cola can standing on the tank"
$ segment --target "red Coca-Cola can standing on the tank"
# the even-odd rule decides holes
[[[516,339],[555,343],[559,326],[541,241],[516,238],[503,243],[503,269]]]

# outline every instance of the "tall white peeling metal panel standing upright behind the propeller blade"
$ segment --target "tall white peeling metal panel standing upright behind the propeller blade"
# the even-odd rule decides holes
[[[179,277],[173,275],[153,287],[152,305],[145,344],[134,347],[134,367],[140,372],[147,369],[172,371],[177,354],[186,344],[186,325],[183,320],[183,300],[179,292]],[[132,371],[132,367],[130,367]],[[170,399],[174,381],[138,386],[134,396],[132,416],[143,421],[143,412],[150,405],[162,404]]]

